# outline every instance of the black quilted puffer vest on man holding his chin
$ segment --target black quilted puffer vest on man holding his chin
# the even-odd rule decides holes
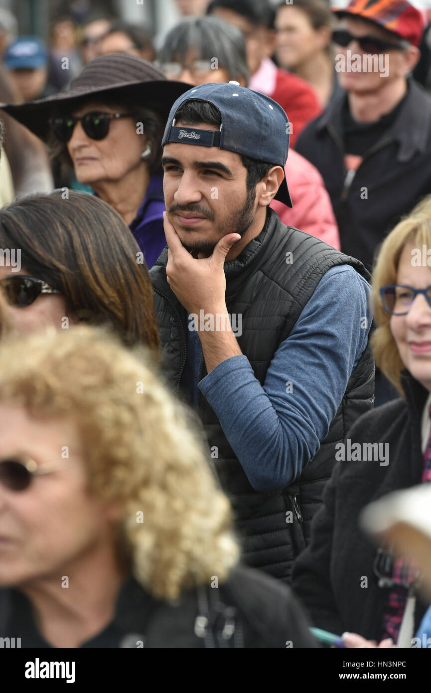
[[[186,360],[188,319],[186,310],[166,281],[167,260],[165,249],[150,274],[166,357],[164,374],[179,394]],[[290,335],[320,279],[335,265],[352,265],[363,277],[369,278],[358,260],[314,236],[285,227],[271,209],[267,211],[261,234],[238,258],[225,263],[227,310],[243,316],[243,333],[237,337],[238,344],[261,385],[274,353]],[[200,378],[204,376],[206,369],[202,358]],[[209,445],[218,448],[218,459],[211,459],[211,463],[234,508],[245,563],[290,581],[292,563],[308,544],[310,523],[321,502],[324,484],[331,475],[335,443],[342,441],[353,421],[371,408],[373,380],[373,358],[367,347],[351,374],[319,451],[294,483],[275,493],[261,493],[252,488],[217,416],[200,394],[198,414]]]

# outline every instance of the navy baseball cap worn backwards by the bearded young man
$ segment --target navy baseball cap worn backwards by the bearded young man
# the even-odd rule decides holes
[[[211,103],[221,115],[220,130],[175,125],[175,114],[187,101]],[[238,82],[199,85],[179,96],[170,109],[161,146],[168,142],[218,147],[250,159],[267,161],[284,170],[289,151],[289,120],[281,106],[265,94]],[[275,200],[292,207],[285,175]]]

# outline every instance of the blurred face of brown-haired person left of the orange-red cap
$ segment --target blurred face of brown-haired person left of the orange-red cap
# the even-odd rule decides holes
[[[294,6],[280,8],[275,19],[276,56],[282,67],[295,69],[331,41],[331,30],[313,28],[307,13]]]

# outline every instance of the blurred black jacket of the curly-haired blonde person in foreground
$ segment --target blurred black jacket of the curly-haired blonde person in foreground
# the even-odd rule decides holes
[[[30,602],[19,590],[0,590],[0,638],[15,638],[6,647],[51,647],[37,630]],[[118,595],[112,622],[81,647],[318,646],[290,589],[257,570],[238,566],[220,586],[214,582],[188,590],[175,603],[151,597],[136,580],[128,578]]]

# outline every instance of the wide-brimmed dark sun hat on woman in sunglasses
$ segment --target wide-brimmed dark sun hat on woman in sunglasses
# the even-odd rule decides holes
[[[191,88],[184,82],[167,80],[164,73],[148,60],[125,53],[110,53],[94,58],[85,65],[67,90],[23,104],[0,103],[0,108],[37,137],[46,140],[51,130],[49,118],[55,109],[75,107],[92,96],[103,102],[118,96],[132,97],[136,105],[152,107],[168,119],[174,101]]]

